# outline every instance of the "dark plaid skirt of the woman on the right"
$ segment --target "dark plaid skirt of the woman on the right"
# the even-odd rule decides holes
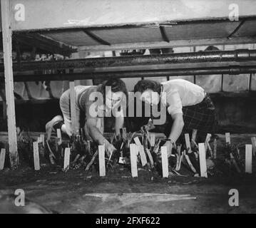
[[[205,95],[204,100],[197,105],[183,107],[183,120],[184,128],[181,136],[184,136],[185,133],[189,133],[191,137],[193,129],[197,129],[198,137],[202,138],[204,142],[208,133],[214,135],[217,128],[217,116],[215,106],[210,96]],[[173,119],[167,112],[166,123],[163,125],[155,125],[155,127],[157,131],[169,136],[172,125]]]

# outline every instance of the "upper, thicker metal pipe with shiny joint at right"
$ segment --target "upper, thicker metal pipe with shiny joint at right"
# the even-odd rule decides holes
[[[21,66],[14,63],[14,71],[41,71],[65,68],[103,68],[115,66],[145,66],[170,63],[203,63],[227,61],[254,61],[256,50],[205,51],[192,53],[170,53],[146,56],[121,56],[106,58],[83,58],[65,61],[23,61]],[[4,72],[4,64],[0,64],[0,72]]]

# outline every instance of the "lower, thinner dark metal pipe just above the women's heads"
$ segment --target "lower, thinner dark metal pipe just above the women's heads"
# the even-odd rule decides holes
[[[89,72],[89,73],[63,73],[41,75],[15,75],[14,81],[73,81],[83,79],[107,78],[143,78],[143,77],[168,77],[168,76],[199,76],[199,75],[239,75],[256,73],[256,66],[222,66],[212,68],[178,68],[150,71],[116,71],[116,72]],[[4,81],[4,77],[0,77]]]

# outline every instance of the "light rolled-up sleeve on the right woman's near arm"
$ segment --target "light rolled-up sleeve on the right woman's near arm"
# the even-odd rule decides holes
[[[178,91],[172,91],[171,93],[168,93],[166,101],[167,110],[171,116],[178,113],[183,114],[183,105],[181,103]]]

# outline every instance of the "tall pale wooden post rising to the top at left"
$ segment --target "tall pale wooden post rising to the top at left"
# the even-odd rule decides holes
[[[4,48],[4,78],[7,105],[9,156],[11,168],[16,169],[19,165],[19,155],[16,136],[14,73],[12,69],[11,15],[11,1],[1,0],[1,28]]]

